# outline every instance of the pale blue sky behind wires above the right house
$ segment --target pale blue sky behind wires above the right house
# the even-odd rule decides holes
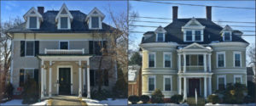
[[[230,6],[230,7],[246,7],[255,8],[254,1],[164,1],[165,3],[189,3],[189,4],[203,4],[209,6]],[[170,5],[162,3],[145,3],[131,1],[131,10],[137,12],[139,16],[146,17],[159,17],[172,19],[172,6],[178,6],[178,18],[206,18],[206,7],[198,6],[186,6],[186,5]],[[172,20],[158,20],[158,19],[142,19],[137,20],[143,21],[160,21],[160,22],[172,22]],[[212,20],[223,20],[223,21],[249,21],[255,22],[255,9],[241,9],[241,8],[214,8],[212,7]],[[241,24],[241,23],[217,23],[220,25],[249,25],[255,26],[254,24]],[[166,26],[168,24],[162,23],[145,23],[135,22],[134,25],[151,25],[151,26]],[[134,31],[154,31],[156,28],[152,27],[135,27]],[[255,31],[255,27],[232,27],[234,30],[242,31]],[[243,32],[244,35],[255,35],[255,32]],[[142,40],[143,33],[131,33],[130,38],[132,42],[135,42],[130,46],[131,49],[137,49],[138,44]],[[247,42],[255,45],[255,36],[242,36]]]

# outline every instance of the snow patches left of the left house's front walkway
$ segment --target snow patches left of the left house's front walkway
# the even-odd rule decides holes
[[[39,103],[33,103],[30,105],[46,105],[47,100],[44,100],[42,102]],[[0,103],[0,105],[27,105],[27,104],[22,104],[22,99],[13,99],[11,101],[8,101],[6,103]]]

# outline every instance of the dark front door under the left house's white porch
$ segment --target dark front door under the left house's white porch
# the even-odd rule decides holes
[[[70,95],[70,68],[59,69],[59,94]]]

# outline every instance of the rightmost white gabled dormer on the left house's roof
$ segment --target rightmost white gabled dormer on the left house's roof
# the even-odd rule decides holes
[[[85,22],[88,23],[89,29],[98,30],[102,29],[102,20],[104,20],[104,18],[105,14],[102,14],[98,8],[93,8],[87,15]]]

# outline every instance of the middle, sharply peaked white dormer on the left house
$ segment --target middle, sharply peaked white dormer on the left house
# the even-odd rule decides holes
[[[70,14],[67,6],[63,3],[59,13],[55,17],[55,22],[59,30],[70,30],[71,22],[73,20],[72,14]]]

